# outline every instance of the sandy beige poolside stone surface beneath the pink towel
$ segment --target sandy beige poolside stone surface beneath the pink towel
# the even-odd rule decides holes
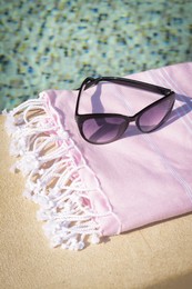
[[[192,215],[105,238],[82,251],[50,249],[37,205],[21,197],[0,116],[1,289],[191,289]]]

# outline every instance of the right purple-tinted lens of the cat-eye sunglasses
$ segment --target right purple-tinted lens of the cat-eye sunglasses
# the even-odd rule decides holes
[[[138,123],[143,132],[150,132],[161,126],[170,116],[174,104],[174,94],[165,98],[156,106],[145,110],[139,118]]]

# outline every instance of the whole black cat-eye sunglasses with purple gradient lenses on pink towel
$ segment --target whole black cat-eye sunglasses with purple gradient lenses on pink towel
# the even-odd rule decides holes
[[[134,116],[123,116],[119,113],[79,113],[80,98],[85,90],[97,86],[100,82],[112,82],[120,86],[128,86],[140,90],[145,90],[162,94],[159,100],[146,106]],[[129,123],[135,121],[141,132],[148,133],[160,128],[170,117],[175,100],[175,93],[163,87],[141,82],[138,80],[100,77],[87,78],[80,89],[75,106],[75,121],[79,131],[84,140],[93,144],[110,143],[120,139],[129,127]]]

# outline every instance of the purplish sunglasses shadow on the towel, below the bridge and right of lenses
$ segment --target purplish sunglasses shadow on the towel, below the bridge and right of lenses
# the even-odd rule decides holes
[[[182,106],[175,108],[172,110],[170,118],[155,131],[161,130],[174,121],[179,120],[180,118],[186,116],[189,112],[192,111],[192,98],[183,96],[183,94],[175,94],[175,101],[183,102]],[[174,104],[175,106],[175,104]],[[154,131],[154,132],[155,132]],[[128,137],[133,137],[133,136],[139,136],[142,134],[135,124],[130,124],[128,127],[128,130],[124,132],[124,134],[121,137],[121,139],[128,138]]]

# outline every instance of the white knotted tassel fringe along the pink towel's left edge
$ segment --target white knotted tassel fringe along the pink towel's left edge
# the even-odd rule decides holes
[[[84,188],[79,175],[87,165],[84,160],[75,163],[74,143],[47,111],[44,101],[28,100],[9,113],[4,111],[6,129],[12,139],[10,155],[20,157],[11,170],[27,177],[23,196],[39,203],[37,218],[44,221],[51,246],[81,250],[87,237],[92,243],[100,241],[94,218],[110,212],[101,216],[92,211],[91,189]]]

